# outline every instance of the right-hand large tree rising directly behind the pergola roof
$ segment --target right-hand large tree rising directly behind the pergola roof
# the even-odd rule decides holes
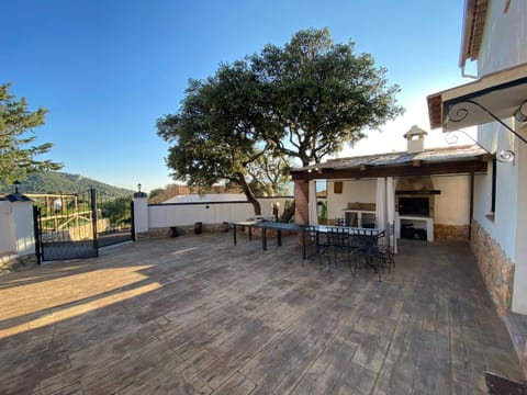
[[[352,146],[366,129],[403,112],[385,69],[370,54],[356,55],[352,42],[334,44],[327,29],[300,31],[283,48],[267,45],[249,59],[267,98],[266,116],[278,126],[267,128],[266,139],[302,166],[344,143]]]

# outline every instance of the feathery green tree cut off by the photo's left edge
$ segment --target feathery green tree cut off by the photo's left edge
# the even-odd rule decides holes
[[[0,189],[15,180],[24,180],[30,173],[63,167],[51,160],[35,159],[52,148],[52,143],[32,145],[36,138],[33,128],[44,124],[47,111],[43,108],[29,111],[24,98],[16,101],[9,93],[10,86],[0,86]]]

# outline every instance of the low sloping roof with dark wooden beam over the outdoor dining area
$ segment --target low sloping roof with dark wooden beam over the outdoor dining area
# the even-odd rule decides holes
[[[489,154],[476,145],[330,159],[290,170],[293,180],[485,172]]]

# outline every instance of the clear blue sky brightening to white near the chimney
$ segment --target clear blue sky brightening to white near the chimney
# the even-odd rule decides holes
[[[341,155],[404,149],[412,124],[429,128],[426,95],[469,82],[457,66],[462,12],[461,0],[4,0],[0,83],[49,110],[35,133],[63,171],[149,191],[172,182],[155,123],[179,109],[188,79],[309,27],[372,54],[407,108]]]

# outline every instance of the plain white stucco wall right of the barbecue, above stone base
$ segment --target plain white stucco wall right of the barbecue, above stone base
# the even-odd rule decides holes
[[[470,176],[433,177],[436,224],[468,225],[470,223]]]

